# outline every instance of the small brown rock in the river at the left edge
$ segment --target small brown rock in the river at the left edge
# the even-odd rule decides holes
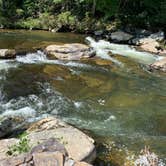
[[[16,51],[13,49],[0,49],[0,59],[11,59],[16,57]]]

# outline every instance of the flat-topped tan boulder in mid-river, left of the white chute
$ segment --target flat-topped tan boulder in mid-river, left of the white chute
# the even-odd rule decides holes
[[[44,51],[49,57],[60,60],[80,60],[94,56],[94,51],[84,44],[50,45]]]

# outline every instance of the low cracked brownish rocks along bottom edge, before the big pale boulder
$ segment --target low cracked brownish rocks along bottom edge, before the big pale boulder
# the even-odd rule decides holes
[[[69,158],[65,147],[55,139],[49,139],[30,152],[0,159],[1,166],[90,166]]]

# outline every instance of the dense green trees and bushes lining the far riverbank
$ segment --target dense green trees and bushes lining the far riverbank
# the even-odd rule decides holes
[[[164,30],[165,0],[0,0],[1,28],[89,33],[139,27]]]

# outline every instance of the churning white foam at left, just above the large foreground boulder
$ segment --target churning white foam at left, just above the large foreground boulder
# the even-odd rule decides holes
[[[61,93],[53,90],[47,83],[39,83],[41,93],[11,99],[8,102],[0,101],[0,117],[23,117],[27,120],[35,120],[43,114],[58,115],[73,106],[73,102]]]

